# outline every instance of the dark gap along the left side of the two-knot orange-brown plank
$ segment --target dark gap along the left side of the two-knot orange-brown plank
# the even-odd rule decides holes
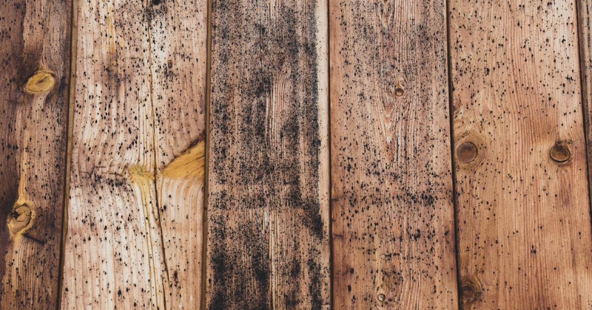
[[[451,158],[451,177],[452,177],[452,206],[453,206],[453,219],[454,219],[454,254],[456,261],[456,299],[458,302],[458,309],[461,309],[461,268],[459,259],[459,237],[458,237],[458,199],[456,199],[456,166],[454,164],[454,114],[453,114],[453,97],[452,91],[454,89],[452,85],[452,61],[450,57],[450,14],[448,11],[449,0],[444,1],[444,8],[446,14],[446,62],[448,68],[448,118],[450,122],[450,158]]]

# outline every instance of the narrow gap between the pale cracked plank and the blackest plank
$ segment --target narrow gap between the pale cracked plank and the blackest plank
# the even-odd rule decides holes
[[[208,250],[208,181],[210,180],[210,97],[212,60],[212,7],[213,0],[207,0],[207,30],[205,35],[205,150],[204,150],[204,211],[201,218],[201,301],[200,309],[205,310],[207,285]]]

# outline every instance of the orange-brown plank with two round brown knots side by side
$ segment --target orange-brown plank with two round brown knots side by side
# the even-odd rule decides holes
[[[575,4],[451,0],[449,18],[462,303],[590,308]]]

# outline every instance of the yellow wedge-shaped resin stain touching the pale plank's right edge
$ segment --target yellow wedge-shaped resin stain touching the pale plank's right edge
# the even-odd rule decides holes
[[[163,170],[162,175],[169,178],[202,178],[205,165],[205,141],[201,140],[183,154],[173,159]]]

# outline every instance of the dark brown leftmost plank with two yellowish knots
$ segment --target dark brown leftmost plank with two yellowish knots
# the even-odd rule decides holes
[[[70,1],[0,7],[0,308],[55,308]]]

